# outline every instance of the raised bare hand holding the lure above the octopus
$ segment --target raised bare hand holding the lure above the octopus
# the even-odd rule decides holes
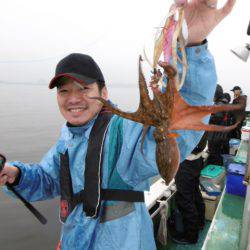
[[[221,9],[217,9],[217,0],[176,0],[185,8],[188,26],[188,45],[201,43],[209,33],[232,10],[236,0],[227,0]]]

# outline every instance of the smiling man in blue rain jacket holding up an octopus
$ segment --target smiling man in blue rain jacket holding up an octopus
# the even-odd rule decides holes
[[[181,94],[192,105],[209,105],[216,73],[204,40],[235,0],[220,10],[217,1],[184,2],[189,72]],[[108,92],[100,68],[87,55],[63,58],[49,87],[57,87],[59,109],[67,121],[59,140],[39,164],[6,164],[0,184],[14,184],[29,201],[61,195],[61,249],[156,249],[152,221],[142,202],[142,191],[158,174],[154,128],[148,130],[142,155],[142,125],[111,117],[90,98],[107,100]],[[180,132],[182,160],[201,135]]]

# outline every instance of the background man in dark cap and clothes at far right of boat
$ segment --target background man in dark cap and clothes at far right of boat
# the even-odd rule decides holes
[[[245,110],[247,105],[247,96],[242,94],[242,89],[239,86],[234,86],[233,89],[231,89],[234,93],[234,99],[232,104],[239,104],[241,105],[242,109],[237,112],[231,112],[231,115],[233,117],[233,121],[241,120],[239,125],[231,131],[230,137],[241,139],[241,128],[243,126],[244,119],[246,117]]]

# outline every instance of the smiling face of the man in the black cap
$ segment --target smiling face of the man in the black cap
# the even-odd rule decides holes
[[[57,102],[62,116],[72,125],[84,125],[102,109],[103,104],[88,97],[108,98],[107,89],[100,91],[97,83],[78,83],[66,78],[57,88]]]

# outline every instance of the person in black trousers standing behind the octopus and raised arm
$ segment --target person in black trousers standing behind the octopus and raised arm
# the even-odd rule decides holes
[[[177,192],[176,208],[183,223],[181,231],[176,222],[169,224],[171,239],[178,244],[193,244],[198,241],[199,230],[205,225],[205,204],[200,191],[200,173],[204,167],[203,150],[207,143],[205,132],[192,153],[180,164],[175,177]],[[178,213],[177,213],[178,214]]]

